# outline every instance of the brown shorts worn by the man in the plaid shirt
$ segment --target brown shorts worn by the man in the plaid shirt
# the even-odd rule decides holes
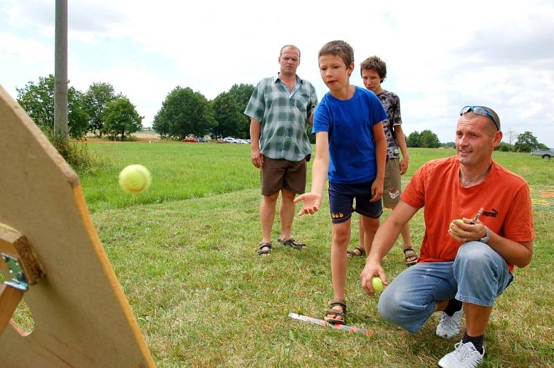
[[[306,189],[306,161],[275,160],[264,156],[260,178],[264,196],[275,194],[283,188],[302,194]]]

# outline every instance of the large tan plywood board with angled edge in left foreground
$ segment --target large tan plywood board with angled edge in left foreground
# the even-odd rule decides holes
[[[46,277],[25,293],[35,327],[0,336],[1,367],[153,367],[78,176],[0,86],[0,223],[24,234]]]

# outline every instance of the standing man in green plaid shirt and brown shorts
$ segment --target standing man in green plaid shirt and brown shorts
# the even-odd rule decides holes
[[[278,241],[295,249],[305,247],[292,237],[292,220],[294,196],[305,190],[305,158],[312,152],[306,125],[312,124],[317,95],[310,82],[296,75],[300,65],[300,50],[296,46],[283,46],[278,62],[278,75],[258,82],[244,111],[251,118],[252,164],[260,169],[262,182],[260,256],[271,252],[271,227],[279,192]]]

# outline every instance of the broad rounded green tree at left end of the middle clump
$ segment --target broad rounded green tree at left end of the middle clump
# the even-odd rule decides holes
[[[177,86],[168,93],[152,127],[159,134],[182,140],[190,134],[204,136],[216,124],[211,105],[202,93]]]

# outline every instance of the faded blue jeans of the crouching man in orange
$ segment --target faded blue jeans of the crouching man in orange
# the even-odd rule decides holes
[[[420,331],[436,302],[456,298],[480,306],[494,300],[512,282],[506,261],[480,241],[469,241],[451,262],[418,263],[406,268],[379,298],[379,313],[411,333]]]

